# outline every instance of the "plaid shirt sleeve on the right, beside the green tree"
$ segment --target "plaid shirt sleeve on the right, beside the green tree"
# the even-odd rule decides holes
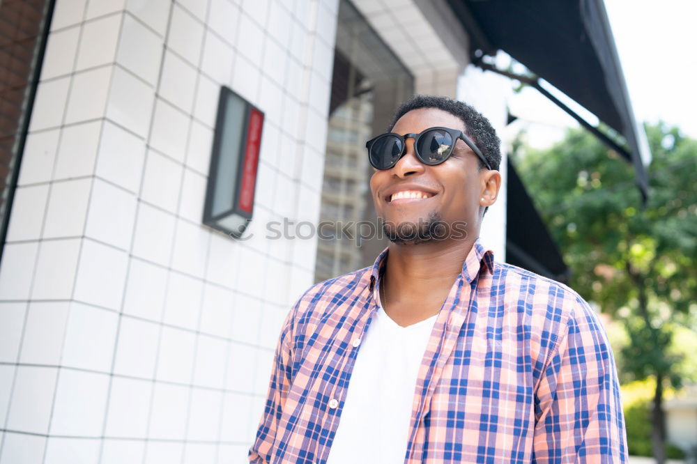
[[[625,463],[627,432],[610,343],[580,297],[535,394],[533,462]]]

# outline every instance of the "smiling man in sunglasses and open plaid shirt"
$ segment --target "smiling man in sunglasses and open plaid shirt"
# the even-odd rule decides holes
[[[254,463],[622,463],[615,362],[571,288],[479,240],[500,141],[447,98],[367,142],[390,245],[286,317]]]

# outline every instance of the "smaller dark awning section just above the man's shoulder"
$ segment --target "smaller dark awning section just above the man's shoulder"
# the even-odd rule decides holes
[[[567,283],[569,268],[510,159],[507,167],[506,262]]]

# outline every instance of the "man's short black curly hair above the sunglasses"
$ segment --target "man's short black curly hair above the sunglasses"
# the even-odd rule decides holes
[[[390,127],[388,127],[388,132],[392,132],[392,127],[395,127],[399,118],[409,111],[420,108],[437,108],[460,118],[465,125],[467,137],[482,150],[482,155],[487,158],[491,168],[498,171],[501,164],[501,141],[496,135],[496,130],[489,122],[489,119],[464,102],[436,95],[414,95],[399,105],[395,112],[395,117],[392,119]],[[482,160],[479,160],[479,164],[480,169],[484,168]]]

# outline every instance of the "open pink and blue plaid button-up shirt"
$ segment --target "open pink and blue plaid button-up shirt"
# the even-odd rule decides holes
[[[325,463],[387,254],[316,284],[286,317],[250,462]],[[404,463],[624,463],[626,442],[595,312],[477,240],[421,362]]]

